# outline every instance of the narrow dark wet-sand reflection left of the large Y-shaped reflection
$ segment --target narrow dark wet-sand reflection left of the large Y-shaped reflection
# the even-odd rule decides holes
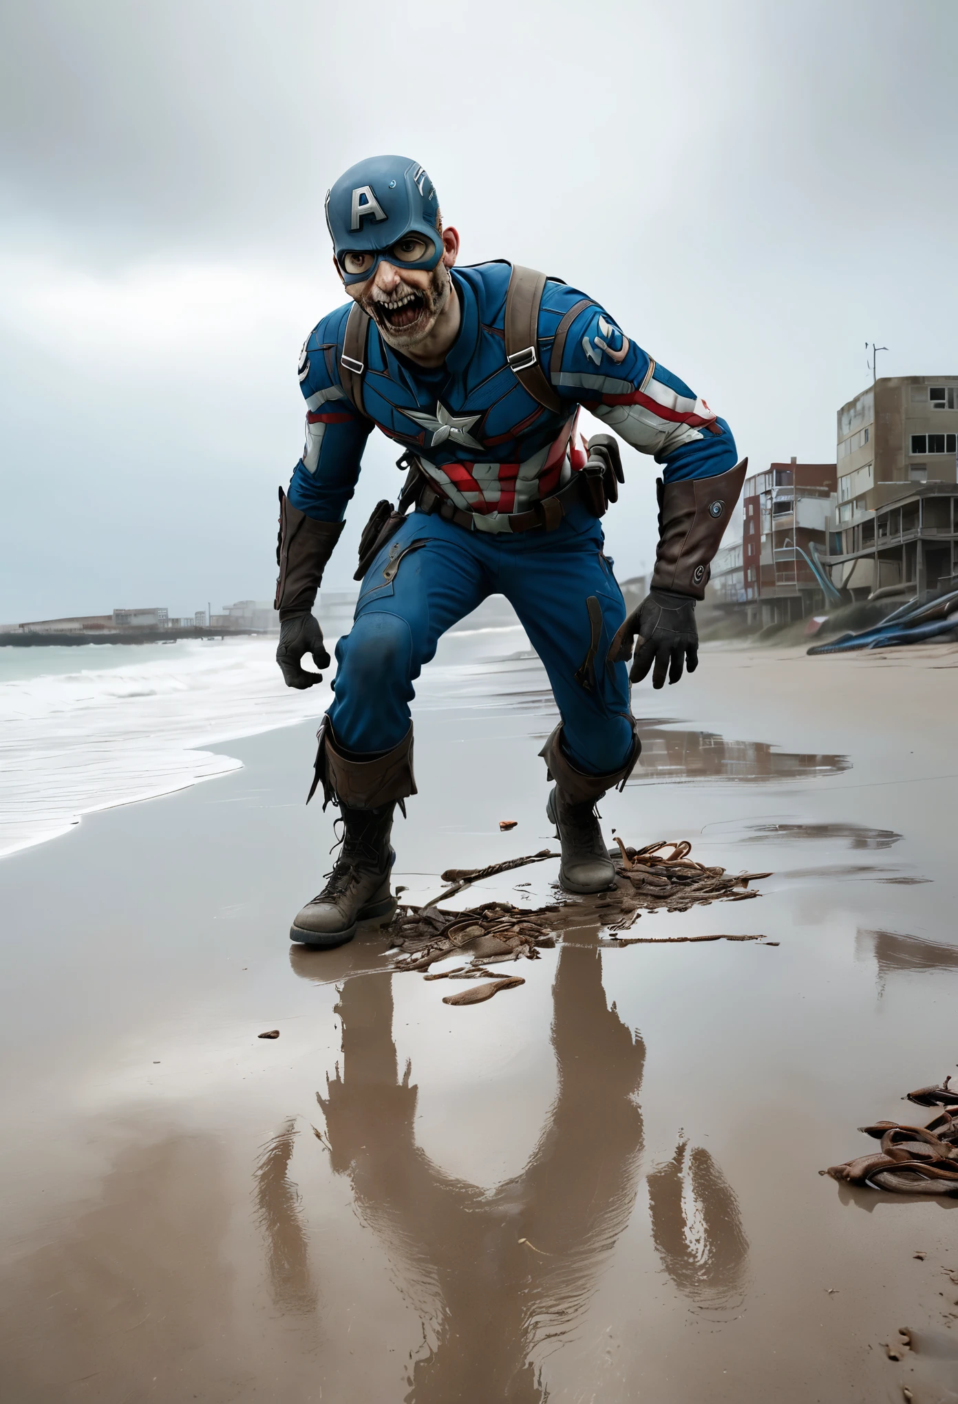
[[[254,1177],[256,1206],[268,1243],[273,1299],[285,1311],[306,1313],[316,1309],[316,1290],[309,1275],[299,1191],[288,1174],[295,1139],[295,1122],[289,1120],[263,1148]]]

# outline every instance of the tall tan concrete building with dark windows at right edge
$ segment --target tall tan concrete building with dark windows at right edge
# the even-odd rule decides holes
[[[854,598],[929,594],[958,573],[958,375],[886,376],[837,416],[829,566]]]

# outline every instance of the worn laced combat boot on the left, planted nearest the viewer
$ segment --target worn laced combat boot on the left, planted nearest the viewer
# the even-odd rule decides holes
[[[329,882],[308,901],[289,928],[289,939],[306,946],[341,946],[361,921],[379,925],[392,918],[396,899],[389,879],[396,854],[389,844],[395,803],[353,809],[340,802],[346,826],[343,848]]]

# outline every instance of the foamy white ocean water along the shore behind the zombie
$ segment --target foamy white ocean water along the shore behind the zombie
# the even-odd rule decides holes
[[[337,625],[326,628],[330,653],[348,628]],[[0,649],[0,855],[66,834],[84,814],[242,767],[212,746],[319,717],[333,670],[305,692],[287,688],[275,646],[274,635]],[[423,705],[492,689],[485,664],[511,650],[528,640],[506,602],[490,600],[442,640],[417,687]]]

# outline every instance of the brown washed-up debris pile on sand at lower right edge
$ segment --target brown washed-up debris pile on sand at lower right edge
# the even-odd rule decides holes
[[[858,1155],[843,1165],[829,1165],[820,1175],[893,1195],[958,1195],[958,1088],[951,1077],[941,1085],[919,1087],[907,1094],[917,1106],[940,1106],[926,1126],[875,1122],[860,1126],[865,1136],[881,1141],[881,1150]]]

